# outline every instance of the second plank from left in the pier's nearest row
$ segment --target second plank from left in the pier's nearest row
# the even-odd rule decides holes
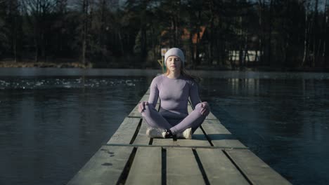
[[[161,147],[138,147],[126,184],[161,184]]]

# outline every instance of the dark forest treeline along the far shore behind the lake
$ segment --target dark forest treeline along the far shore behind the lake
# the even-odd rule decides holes
[[[329,67],[329,0],[0,0],[0,62]]]

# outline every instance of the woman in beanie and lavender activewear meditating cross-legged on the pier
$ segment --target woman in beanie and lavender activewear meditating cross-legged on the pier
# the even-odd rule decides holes
[[[179,48],[171,48],[164,55],[167,73],[157,76],[150,85],[148,102],[141,102],[138,111],[148,123],[148,137],[192,139],[193,132],[209,114],[207,102],[201,102],[198,84],[184,70],[184,55]],[[160,97],[160,111],[155,109]],[[195,109],[188,114],[188,97]]]

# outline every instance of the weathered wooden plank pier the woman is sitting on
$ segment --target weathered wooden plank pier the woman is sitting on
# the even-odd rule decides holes
[[[146,128],[137,105],[68,184],[290,184],[212,113],[192,139],[150,139]]]

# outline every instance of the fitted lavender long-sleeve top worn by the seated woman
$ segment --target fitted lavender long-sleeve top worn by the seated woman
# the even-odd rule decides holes
[[[184,118],[188,116],[188,97],[193,107],[200,103],[198,84],[193,79],[179,76],[179,78],[168,78],[164,74],[153,79],[150,85],[150,97],[148,102],[157,104],[160,97],[160,114],[167,118]]]

